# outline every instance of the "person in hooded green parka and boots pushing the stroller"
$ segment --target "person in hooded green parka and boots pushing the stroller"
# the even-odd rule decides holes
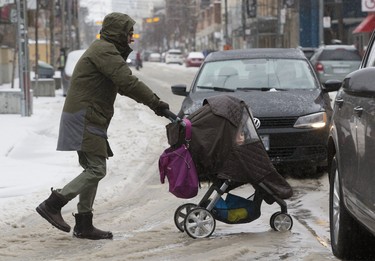
[[[135,21],[123,13],[108,14],[100,39],[81,56],[74,69],[71,86],[63,107],[57,150],[77,151],[83,172],[62,189],[52,193],[36,211],[56,228],[70,232],[61,208],[79,196],[73,236],[87,239],[111,239],[110,231],[93,226],[93,204],[99,181],[106,175],[106,160],[113,156],[107,141],[107,129],[114,112],[117,94],[143,103],[158,116],[169,105],[137,77],[132,75],[126,58],[132,51]]]

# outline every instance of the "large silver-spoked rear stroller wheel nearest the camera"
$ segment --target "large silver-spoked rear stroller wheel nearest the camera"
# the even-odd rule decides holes
[[[189,211],[184,221],[184,229],[192,238],[209,237],[214,232],[216,220],[211,213],[202,207]]]

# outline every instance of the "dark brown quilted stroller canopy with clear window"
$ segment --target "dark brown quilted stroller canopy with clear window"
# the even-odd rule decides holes
[[[263,182],[276,196],[291,197],[292,188],[269,159],[245,102],[229,95],[213,96],[188,119],[192,123],[189,150],[200,178],[253,186]],[[183,142],[183,131],[176,142],[173,129],[167,126],[170,145]]]

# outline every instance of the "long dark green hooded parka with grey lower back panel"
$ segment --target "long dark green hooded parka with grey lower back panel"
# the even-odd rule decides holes
[[[126,63],[132,51],[128,34],[134,24],[126,14],[107,15],[100,39],[77,62],[61,115],[57,150],[113,156],[107,129],[116,95],[128,96],[151,109],[158,105],[159,98],[132,75]]]

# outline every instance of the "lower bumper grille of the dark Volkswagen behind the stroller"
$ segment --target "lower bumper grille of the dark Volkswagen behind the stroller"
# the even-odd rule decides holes
[[[272,162],[288,161],[288,160],[319,160],[325,158],[327,150],[324,146],[308,146],[308,147],[284,147],[270,148],[268,156]]]

